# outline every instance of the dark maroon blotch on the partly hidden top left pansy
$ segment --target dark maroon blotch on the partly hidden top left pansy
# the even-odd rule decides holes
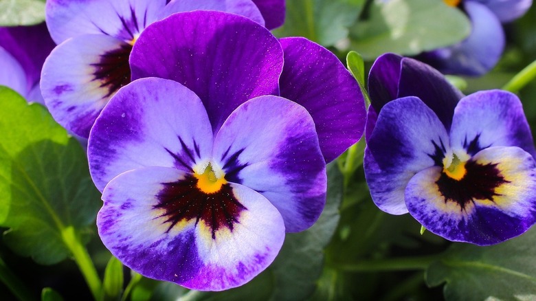
[[[131,82],[131,68],[129,67],[129,56],[131,55],[132,45],[122,43],[119,48],[113,49],[100,56],[99,63],[93,63],[93,80],[99,81],[100,87],[108,89],[104,96],[107,98],[120,87]]]

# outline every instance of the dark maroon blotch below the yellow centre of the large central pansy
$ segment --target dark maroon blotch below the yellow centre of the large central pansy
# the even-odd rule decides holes
[[[247,210],[234,196],[231,186],[223,184],[215,193],[205,193],[197,188],[197,178],[186,176],[177,182],[162,183],[164,189],[157,194],[159,204],[154,209],[164,209],[164,223],[169,223],[168,231],[180,221],[195,219],[195,225],[202,221],[210,227],[212,238],[222,227],[230,231],[238,223],[242,210]]]

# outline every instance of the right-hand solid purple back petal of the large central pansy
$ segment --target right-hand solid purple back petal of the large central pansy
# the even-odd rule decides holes
[[[313,117],[326,162],[339,157],[363,135],[365,101],[357,81],[328,49],[306,38],[282,38],[281,96]]]

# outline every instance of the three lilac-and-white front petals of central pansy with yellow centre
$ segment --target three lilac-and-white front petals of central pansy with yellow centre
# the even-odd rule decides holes
[[[144,276],[219,291],[259,274],[285,232],[317,220],[327,179],[299,104],[253,98],[216,131],[208,113],[178,82],[135,80],[97,118],[88,157],[112,254]]]

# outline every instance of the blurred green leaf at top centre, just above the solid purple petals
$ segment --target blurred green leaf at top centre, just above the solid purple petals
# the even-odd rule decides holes
[[[324,46],[335,45],[348,36],[365,0],[287,1],[284,25],[276,36],[304,36]]]

